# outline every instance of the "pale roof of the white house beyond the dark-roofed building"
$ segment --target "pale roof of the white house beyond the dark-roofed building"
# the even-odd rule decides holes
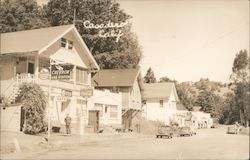
[[[168,99],[174,93],[176,101],[179,101],[174,83],[144,83],[144,95],[146,99]]]

